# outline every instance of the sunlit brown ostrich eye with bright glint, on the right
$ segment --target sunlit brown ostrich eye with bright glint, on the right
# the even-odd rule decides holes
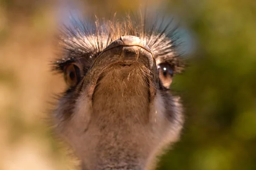
[[[165,88],[169,88],[172,83],[173,68],[167,63],[157,65],[157,71],[160,81]]]

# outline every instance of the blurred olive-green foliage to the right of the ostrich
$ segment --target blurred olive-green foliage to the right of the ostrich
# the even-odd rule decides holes
[[[175,5],[198,48],[185,74],[175,78],[186,125],[159,169],[256,170],[256,1]]]

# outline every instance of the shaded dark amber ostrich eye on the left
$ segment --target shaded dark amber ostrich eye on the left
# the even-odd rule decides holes
[[[64,68],[64,78],[65,78],[65,81],[67,82],[67,85],[71,87],[77,85],[77,83],[79,82],[79,76],[80,76],[79,74],[80,74],[80,71],[78,66],[76,66],[73,63],[67,65],[67,67]]]

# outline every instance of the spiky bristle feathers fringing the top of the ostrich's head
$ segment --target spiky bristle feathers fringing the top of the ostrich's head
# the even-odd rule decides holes
[[[182,53],[177,51],[178,46],[181,45],[180,34],[177,31],[178,27],[172,26],[173,18],[169,23],[165,23],[163,17],[158,23],[159,14],[154,22],[148,22],[146,10],[144,17],[140,15],[138,17],[137,13],[132,13],[133,19],[131,19],[127,14],[121,21],[116,19],[116,14],[113,15],[112,20],[100,20],[96,17],[95,22],[86,22],[74,19],[72,26],[63,26],[60,30],[59,45],[64,56],[60,55],[61,57],[52,63],[52,69],[61,72],[64,65],[83,58],[88,67],[84,69],[88,70],[94,59],[113,40],[123,35],[134,35],[146,42],[156,58],[165,58],[174,66],[175,73],[180,73],[184,67],[184,58]]]

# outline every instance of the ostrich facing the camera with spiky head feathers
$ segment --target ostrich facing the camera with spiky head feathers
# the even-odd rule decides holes
[[[67,90],[53,111],[54,129],[82,170],[151,170],[183,126],[169,87],[182,72],[170,24],[147,27],[126,17],[65,27],[54,69]]]

